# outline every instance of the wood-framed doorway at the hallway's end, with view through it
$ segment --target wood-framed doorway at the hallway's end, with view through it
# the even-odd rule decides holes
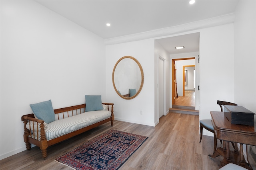
[[[195,57],[172,59],[173,106],[191,106],[195,108],[196,93],[194,83],[196,82],[194,68]]]

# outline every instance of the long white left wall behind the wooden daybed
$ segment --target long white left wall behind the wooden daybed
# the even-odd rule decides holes
[[[32,113],[29,104],[74,106],[85,103],[85,94],[112,101],[102,38],[34,1],[0,3],[2,159],[26,150],[21,116]]]

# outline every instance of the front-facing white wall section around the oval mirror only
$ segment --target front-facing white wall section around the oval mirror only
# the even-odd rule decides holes
[[[124,56],[132,56],[141,64],[144,72],[144,85],[136,98],[125,100],[116,94],[112,79],[106,80],[106,94],[108,100],[114,103],[115,119],[154,126],[154,40],[146,39],[107,45],[106,77],[112,77],[116,62]]]

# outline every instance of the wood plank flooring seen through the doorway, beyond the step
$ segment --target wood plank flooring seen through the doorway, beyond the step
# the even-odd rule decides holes
[[[185,90],[185,96],[178,96],[173,105],[195,107],[195,91]]]

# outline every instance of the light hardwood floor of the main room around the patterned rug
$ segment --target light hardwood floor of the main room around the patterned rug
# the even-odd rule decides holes
[[[71,170],[54,159],[78,147],[82,143],[116,129],[148,136],[142,146],[119,170],[218,170],[222,156],[210,159],[213,137],[203,136],[199,143],[199,117],[180,113],[168,113],[160,118],[156,127],[114,121],[53,145],[47,149],[47,159],[42,158],[38,147],[25,150],[0,161],[1,170]],[[20,139],[23,140],[23,139]],[[24,143],[25,145],[25,143]],[[221,144],[218,141],[218,146]]]

